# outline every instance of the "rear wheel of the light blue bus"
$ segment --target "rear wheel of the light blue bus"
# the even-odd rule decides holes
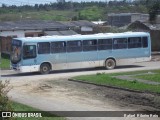
[[[113,59],[107,59],[106,62],[105,62],[105,68],[107,70],[111,70],[111,69],[114,69],[116,66],[116,62],[115,60]]]

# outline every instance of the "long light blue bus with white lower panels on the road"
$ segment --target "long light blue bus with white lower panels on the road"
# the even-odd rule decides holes
[[[147,32],[14,38],[11,67],[19,72],[48,74],[52,70],[92,68],[150,61]]]

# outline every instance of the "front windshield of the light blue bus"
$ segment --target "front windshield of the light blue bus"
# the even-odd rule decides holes
[[[22,55],[22,42],[18,40],[12,40],[11,47],[11,62],[16,64],[21,60]]]

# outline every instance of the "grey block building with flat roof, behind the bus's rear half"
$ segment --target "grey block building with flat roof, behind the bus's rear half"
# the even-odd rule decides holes
[[[111,26],[122,27],[137,20],[147,21],[149,14],[141,13],[111,13],[108,14],[108,24]]]

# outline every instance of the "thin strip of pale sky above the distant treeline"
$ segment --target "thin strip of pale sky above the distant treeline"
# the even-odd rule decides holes
[[[81,2],[81,1],[114,1],[114,0],[66,0],[73,2]],[[57,0],[0,0],[0,5],[34,5],[34,4],[45,4],[50,2],[57,2]]]

